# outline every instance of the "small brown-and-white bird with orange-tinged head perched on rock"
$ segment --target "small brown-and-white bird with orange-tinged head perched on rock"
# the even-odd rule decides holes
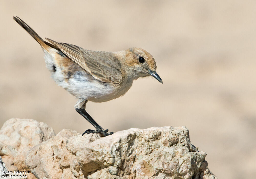
[[[113,134],[87,113],[88,101],[100,103],[123,96],[139,77],[153,76],[163,84],[156,73],[155,59],[146,50],[133,47],[116,52],[92,51],[45,38],[49,43],[22,19],[17,16],[13,19],[40,44],[52,79],[78,98],[74,108],[96,129],[88,129],[82,135],[99,133],[105,137]]]

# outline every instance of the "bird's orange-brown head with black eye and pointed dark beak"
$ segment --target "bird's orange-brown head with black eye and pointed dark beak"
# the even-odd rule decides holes
[[[134,79],[151,75],[160,83],[163,83],[160,76],[156,73],[154,57],[146,50],[136,47],[127,49],[125,51],[125,62],[129,76],[133,76]]]

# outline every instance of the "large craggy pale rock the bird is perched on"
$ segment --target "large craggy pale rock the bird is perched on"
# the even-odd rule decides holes
[[[217,178],[186,127],[132,128],[102,138],[63,129],[27,153],[38,178]]]

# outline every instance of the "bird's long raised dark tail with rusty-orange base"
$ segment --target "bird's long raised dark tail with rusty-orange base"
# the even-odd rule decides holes
[[[27,25],[23,20],[21,20],[19,17],[14,17],[13,19],[20,25],[23,27],[23,29],[25,29],[44,49],[48,49],[49,46],[56,48],[55,46],[53,46],[52,44],[44,41],[31,27],[29,27],[29,25]]]

